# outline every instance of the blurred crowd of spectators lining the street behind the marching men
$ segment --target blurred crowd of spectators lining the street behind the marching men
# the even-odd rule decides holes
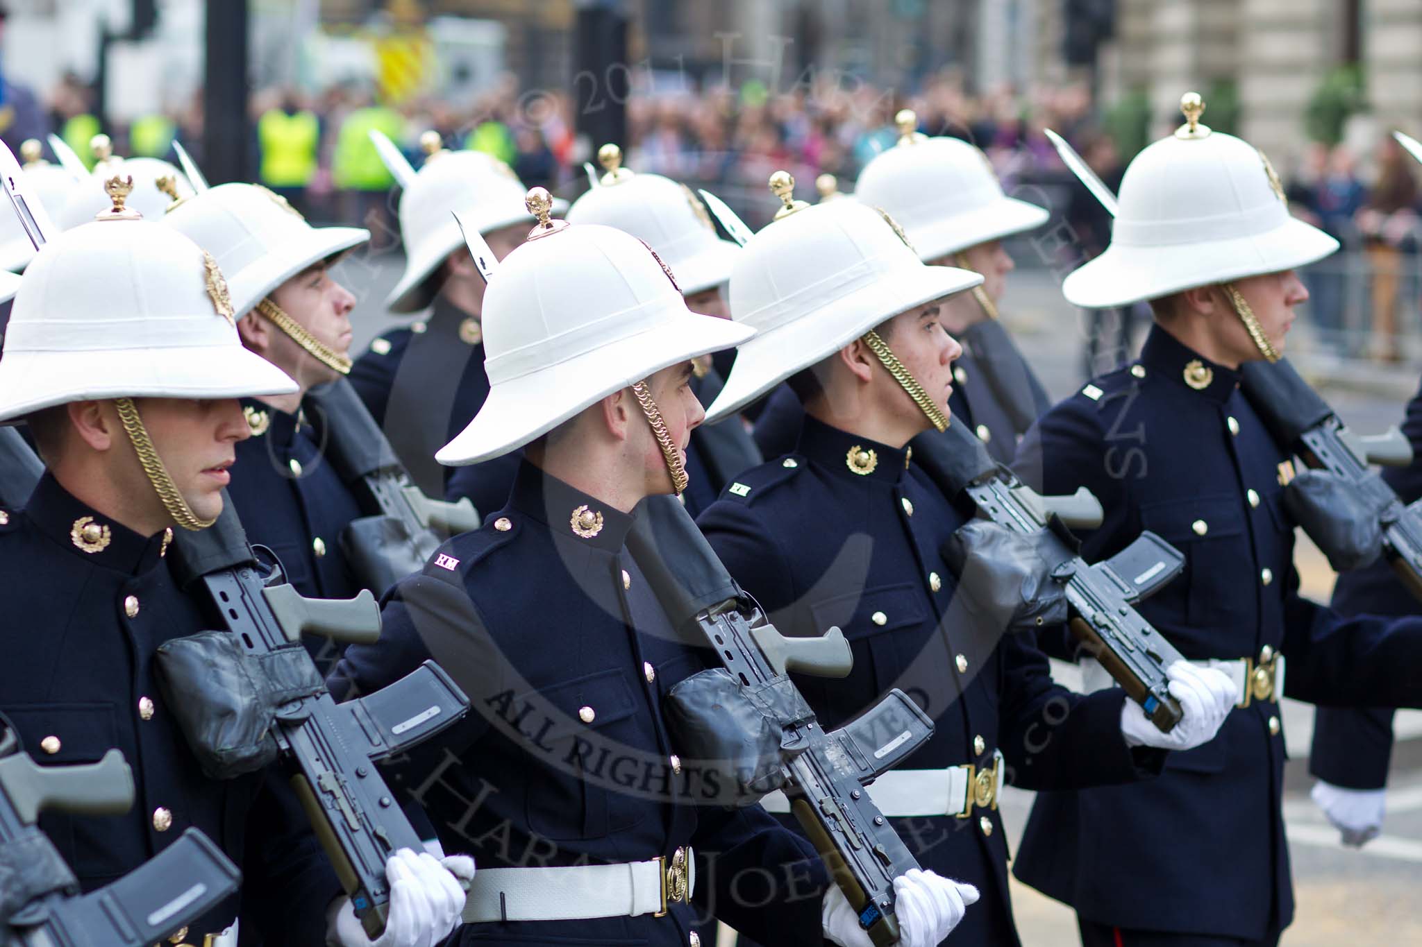
[[[1109,239],[1109,217],[1061,163],[1047,128],[1072,142],[1116,187],[1133,149],[1180,121],[1177,115],[1142,116],[1149,126],[1130,141],[1118,141],[1119,122],[1108,121],[1108,109],[1092,101],[1085,84],[974,92],[953,70],[912,94],[845,74],[822,74],[791,91],[755,78],[705,87],[681,75],[663,78],[668,81],[646,77],[626,101],[629,168],[708,187],[759,226],[775,207],[765,192],[771,172],[791,170],[801,197],[813,199],[813,182],[823,173],[852,190],[859,169],[897,139],[896,114],[912,108],[919,131],[978,145],[1010,193],[1047,203],[1058,221],[1069,224],[1069,244],[1034,247],[1038,258],[1022,260],[1028,266],[1071,264],[1065,257],[1094,256]],[[13,92],[10,99],[20,101]],[[171,142],[178,139],[202,162],[201,95],[179,111],[141,116],[122,128],[101,128],[94,92],[77,77],[65,77],[40,99],[43,109],[33,109],[26,128],[16,122],[4,132],[6,141],[17,139],[11,148],[43,121],[43,131],[58,132],[85,159],[88,139],[104,131],[121,155],[171,159]],[[317,92],[266,88],[250,99],[249,166],[255,177],[316,220],[371,226],[384,216],[387,231],[394,233],[388,220],[394,182],[370,146],[368,129],[385,132],[417,166],[424,160],[421,136],[438,131],[447,148],[489,152],[526,185],[572,199],[587,186],[584,162],[594,160],[602,143],[579,138],[574,109],[572,89],[523,89],[513,77],[503,77],[462,109],[439,97],[391,106],[354,84]],[[1349,355],[1401,358],[1399,339],[1418,335],[1413,322],[1422,295],[1413,162],[1391,138],[1371,155],[1348,145],[1311,143],[1276,159],[1295,213],[1345,248],[1308,274],[1311,322],[1320,338]],[[1121,321],[1129,322],[1129,314],[1121,314]]]

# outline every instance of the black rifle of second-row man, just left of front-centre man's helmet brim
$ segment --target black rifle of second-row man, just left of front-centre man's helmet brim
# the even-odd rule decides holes
[[[479,514],[466,498],[431,500],[414,484],[344,378],[313,388],[304,405],[337,476],[374,514],[351,522],[343,537],[347,557],[367,588],[388,589],[422,569],[449,535],[479,528]]]

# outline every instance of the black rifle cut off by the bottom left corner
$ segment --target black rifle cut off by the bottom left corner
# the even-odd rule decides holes
[[[0,720],[0,946],[148,947],[237,890],[237,867],[188,829],[124,877],[80,894],[36,826],[40,812],[117,815],[132,804],[134,774],[118,750],[92,764],[40,767]]]

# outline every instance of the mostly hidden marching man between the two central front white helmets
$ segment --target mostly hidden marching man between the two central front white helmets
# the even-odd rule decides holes
[[[621,149],[603,145],[597,158],[607,173],[599,187],[573,202],[569,223],[602,223],[626,230],[653,248],[677,274],[681,295],[693,312],[731,318],[721,285],[731,278],[739,247],[715,236],[701,199],[685,185],[661,175],[634,175],[621,166]],[[702,405],[721,393],[724,379],[710,358],[697,361],[691,389]],[[687,511],[694,517],[721,494],[735,474],[761,463],[761,451],[739,419],[701,425],[691,432],[687,449]],[[451,491],[462,496],[464,470],[451,478]]]

